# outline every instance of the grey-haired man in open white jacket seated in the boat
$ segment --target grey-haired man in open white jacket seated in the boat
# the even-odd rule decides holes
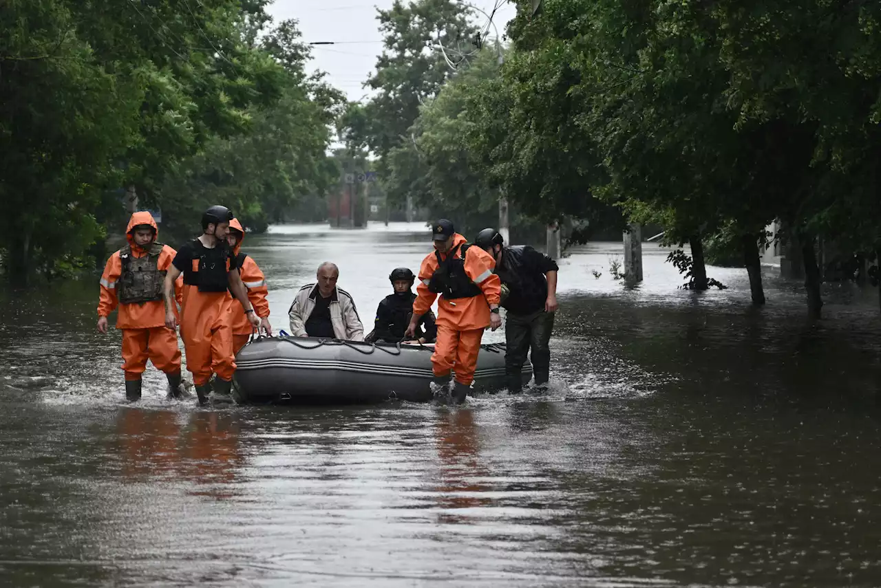
[[[295,337],[364,341],[364,326],[349,292],[337,288],[339,268],[325,261],[318,266],[317,283],[297,292],[288,316]]]

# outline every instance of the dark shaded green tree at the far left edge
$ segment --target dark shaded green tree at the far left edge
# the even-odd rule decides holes
[[[10,0],[0,31],[0,248],[22,284],[100,237],[92,211],[121,178],[141,96],[97,62],[69,3]]]

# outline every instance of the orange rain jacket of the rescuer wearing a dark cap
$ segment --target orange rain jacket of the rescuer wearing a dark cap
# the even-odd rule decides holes
[[[466,243],[459,233],[455,233],[453,246]],[[456,252],[457,257],[462,257],[461,250]],[[441,259],[446,260],[447,254],[441,254]],[[495,260],[478,246],[470,246],[465,252],[465,274],[471,282],[476,283],[483,296],[472,298],[459,298],[452,304],[451,301],[441,297],[438,302],[438,318],[435,321],[438,327],[449,327],[456,331],[470,331],[478,328],[489,327],[490,307],[498,305],[501,294],[499,276],[492,273],[495,268]],[[419,268],[419,284],[416,288],[417,297],[413,302],[413,314],[425,314],[432,307],[437,294],[428,290],[434,271],[438,268],[437,257],[434,252],[426,255]]]

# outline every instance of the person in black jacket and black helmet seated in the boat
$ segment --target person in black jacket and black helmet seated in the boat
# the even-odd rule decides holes
[[[374,331],[367,335],[366,342],[396,343],[403,339],[413,314],[413,301],[416,300],[416,294],[411,290],[415,281],[416,276],[410,268],[396,268],[392,271],[389,282],[395,293],[383,298],[376,309]],[[437,338],[433,312],[428,311],[422,316],[416,336],[420,343],[433,343]]]

